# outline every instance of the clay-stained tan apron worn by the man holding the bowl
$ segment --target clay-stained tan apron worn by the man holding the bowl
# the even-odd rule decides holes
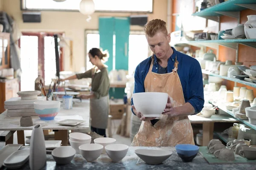
[[[169,94],[172,106],[178,107],[185,104],[183,90],[177,74],[177,56],[174,69],[171,73],[157,74],[152,72],[154,59],[145,77],[145,92],[163,92]],[[170,117],[163,115],[152,126],[150,121],[143,121],[139,132],[134,136],[131,146],[174,147],[176,144],[195,144],[193,130],[188,116]]]

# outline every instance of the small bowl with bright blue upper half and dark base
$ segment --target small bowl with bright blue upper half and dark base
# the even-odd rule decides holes
[[[192,161],[199,151],[199,147],[194,144],[177,144],[175,149],[184,162]]]

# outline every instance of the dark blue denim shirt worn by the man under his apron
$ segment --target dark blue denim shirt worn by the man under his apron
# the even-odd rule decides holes
[[[177,55],[177,61],[179,62],[177,73],[180,77],[185,102],[189,102],[195,108],[195,114],[199,113],[204,107],[204,86],[201,66],[195,58],[180,53],[173,47],[172,49],[173,54],[168,60],[167,72],[172,72]],[[151,57],[148,57],[136,67],[134,93],[145,92],[144,81],[150,64]],[[158,73],[158,65],[157,57],[154,55],[154,65],[152,68],[154,73]],[[131,105],[133,105],[133,99],[131,99]],[[133,112],[133,109],[131,110]]]

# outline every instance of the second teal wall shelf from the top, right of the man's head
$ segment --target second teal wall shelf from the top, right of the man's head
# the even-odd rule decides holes
[[[183,40],[176,42],[175,45],[187,44],[195,47],[209,47],[218,49],[219,45],[237,49],[238,44],[247,45],[249,47],[256,48],[256,39],[233,39],[233,40],[201,40],[201,41],[187,41]]]

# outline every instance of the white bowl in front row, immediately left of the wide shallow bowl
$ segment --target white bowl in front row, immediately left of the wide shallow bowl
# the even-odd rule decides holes
[[[128,148],[126,144],[109,144],[105,146],[106,153],[113,162],[121,161],[126,156]]]

